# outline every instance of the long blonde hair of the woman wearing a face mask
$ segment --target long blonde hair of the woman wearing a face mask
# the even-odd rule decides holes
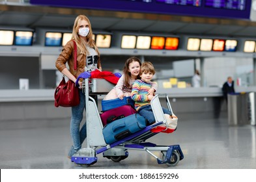
[[[79,38],[79,23],[85,20],[89,23],[89,34],[86,36],[87,38],[87,42],[85,42],[82,38]],[[90,20],[87,18],[87,16],[80,14],[74,22],[74,26],[73,26],[73,31],[72,31],[72,38],[73,40],[76,41],[76,44],[78,45],[78,49],[81,51],[81,53],[83,53],[84,55],[88,53],[87,47],[86,45],[89,45],[90,47],[94,48],[95,51],[98,53],[99,57],[100,57],[100,53],[98,51],[98,47],[96,47],[94,40],[92,39],[92,27],[91,27],[91,22]]]

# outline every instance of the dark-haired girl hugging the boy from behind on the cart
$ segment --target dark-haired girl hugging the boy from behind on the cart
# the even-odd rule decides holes
[[[104,100],[109,99],[123,99],[131,96],[132,84],[136,79],[140,79],[139,71],[141,68],[141,61],[137,57],[130,57],[124,64],[124,74],[119,79],[117,85],[107,94]],[[153,83],[148,95],[153,95],[157,89],[157,84]]]

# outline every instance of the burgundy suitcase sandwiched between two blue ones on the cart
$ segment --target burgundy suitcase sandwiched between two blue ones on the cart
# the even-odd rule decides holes
[[[103,112],[100,114],[100,118],[102,119],[102,124],[105,126],[107,123],[111,123],[135,113],[137,112],[131,105],[122,105],[121,107]]]

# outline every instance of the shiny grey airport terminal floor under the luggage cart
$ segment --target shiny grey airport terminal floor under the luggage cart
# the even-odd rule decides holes
[[[159,133],[147,140],[160,145],[180,144],[184,159],[177,166],[158,164],[146,151],[134,150],[128,150],[128,158],[120,162],[106,159],[100,153],[98,161],[89,167],[74,164],[67,158],[72,144],[68,119],[0,122],[0,131],[1,169],[256,168],[256,127],[229,126],[227,118],[182,120],[180,117],[175,133]]]

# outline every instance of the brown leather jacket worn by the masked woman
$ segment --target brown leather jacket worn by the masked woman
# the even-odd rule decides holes
[[[57,58],[55,62],[56,68],[62,72],[64,68],[66,68],[66,62],[68,62],[69,70],[72,75],[74,75],[76,78],[79,76],[80,73],[85,72],[85,66],[86,66],[86,55],[83,55],[80,53],[78,49],[77,53],[77,72],[74,72],[74,42],[72,40],[68,41],[66,45],[64,45],[63,50],[61,51],[61,54]],[[100,57],[98,58],[97,67],[100,68]]]

